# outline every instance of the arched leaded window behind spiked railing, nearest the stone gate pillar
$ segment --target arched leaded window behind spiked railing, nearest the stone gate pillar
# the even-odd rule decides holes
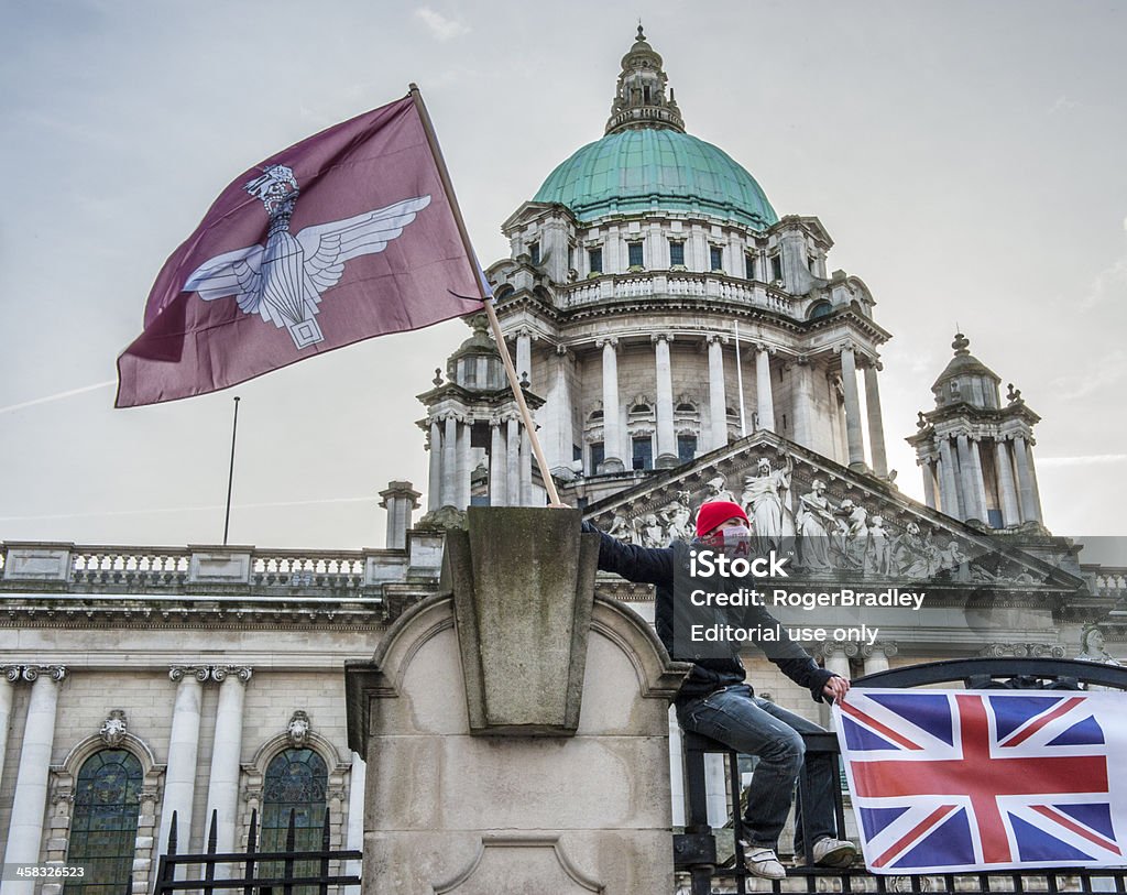
[[[325,759],[311,748],[287,748],[275,755],[266,765],[264,782],[259,851],[285,851],[285,834],[291,812],[294,817],[294,849],[319,851],[321,826],[325,824],[325,790],[329,783]],[[294,866],[295,876],[318,872],[317,861],[303,861]],[[270,874],[281,876],[282,866],[270,867]],[[316,886],[298,886],[294,893],[312,895],[316,888]]]

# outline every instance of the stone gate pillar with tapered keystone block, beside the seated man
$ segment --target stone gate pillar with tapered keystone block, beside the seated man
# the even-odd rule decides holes
[[[542,531],[559,537],[551,523]],[[469,540],[473,544],[472,521]],[[576,531],[558,547],[551,562],[558,579],[582,581],[578,542]],[[494,540],[487,552],[490,566],[507,567],[539,549],[511,534]],[[470,573],[452,569],[452,577]],[[689,666],[671,663],[632,610],[592,597],[589,584],[583,591],[579,599],[589,604],[585,637],[566,638],[586,641],[577,693],[582,709],[570,733],[473,732],[462,661],[467,645],[459,645],[465,631],[455,627],[453,593],[401,617],[372,662],[348,664],[349,743],[367,763],[365,892],[673,890],[667,708]],[[532,594],[521,593],[536,605]],[[498,592],[491,599],[513,596]],[[520,685],[521,670],[530,668],[529,686],[547,692],[553,688],[540,676],[543,657],[529,652],[539,648],[527,628],[531,614],[496,613],[491,636],[504,639],[505,620],[512,618],[505,673]],[[541,618],[556,623],[551,613]],[[548,662],[574,667],[570,657],[566,666],[559,655]],[[485,657],[482,664],[495,662]],[[568,688],[566,675],[554,682],[557,691]],[[485,690],[487,700],[490,692]],[[562,702],[556,699],[553,710]]]

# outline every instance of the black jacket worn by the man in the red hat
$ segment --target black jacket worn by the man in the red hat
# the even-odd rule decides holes
[[[583,523],[585,532],[600,535],[598,568],[602,571],[613,571],[630,582],[657,585],[655,602],[655,627],[657,636],[673,658],[684,658],[692,662],[693,667],[681,685],[676,702],[687,702],[706,697],[709,693],[731,684],[744,682],[746,672],[739,661],[738,649],[733,646],[731,654],[726,657],[706,658],[698,656],[678,656],[674,650],[673,640],[673,578],[676,562],[674,548],[650,548],[622,543],[605,532],[600,531],[589,522]],[[752,621],[764,626],[779,627],[771,614],[762,606],[751,610]],[[818,665],[809,654],[796,643],[786,629],[781,630],[778,643],[770,652],[765,650],[779,670],[799,686],[806,688],[816,701],[822,701],[822,689],[826,681],[836,675]]]

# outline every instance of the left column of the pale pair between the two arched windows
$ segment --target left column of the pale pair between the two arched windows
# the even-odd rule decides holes
[[[168,736],[168,770],[165,772],[165,801],[160,808],[160,834],[157,854],[168,849],[168,831],[176,814],[177,849],[188,850],[192,832],[192,803],[196,790],[196,755],[199,750],[199,707],[203,682],[211,670],[174,665],[168,676],[177,682],[172,706],[172,727]]]

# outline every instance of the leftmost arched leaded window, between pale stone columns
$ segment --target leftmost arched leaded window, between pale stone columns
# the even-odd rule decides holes
[[[66,863],[85,867],[66,895],[121,895],[133,886],[141,762],[123,748],[104,748],[82,762],[74,792]]]

